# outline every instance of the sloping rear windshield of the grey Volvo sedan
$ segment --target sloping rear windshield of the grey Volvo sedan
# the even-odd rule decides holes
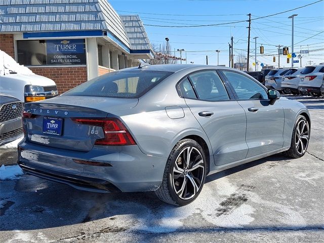
[[[111,72],[93,78],[63,95],[138,98],[172,73],[145,70]]]

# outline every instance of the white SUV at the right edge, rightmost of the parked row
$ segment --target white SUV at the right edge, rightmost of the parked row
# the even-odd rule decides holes
[[[320,96],[320,87],[324,82],[324,65],[306,66],[300,73],[298,90],[311,96]]]

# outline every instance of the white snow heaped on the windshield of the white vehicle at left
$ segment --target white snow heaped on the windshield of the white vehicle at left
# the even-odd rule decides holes
[[[0,75],[7,75],[10,72],[17,74],[33,74],[33,72],[23,65],[19,65],[11,56],[0,50]]]

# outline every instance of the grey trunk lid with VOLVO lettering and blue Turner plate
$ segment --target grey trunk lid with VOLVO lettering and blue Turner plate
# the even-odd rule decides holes
[[[103,119],[108,113],[133,108],[137,103],[138,99],[76,96],[27,103],[24,129],[28,140],[33,143],[90,151],[97,140],[105,138],[103,128],[98,123],[78,123],[74,118]]]

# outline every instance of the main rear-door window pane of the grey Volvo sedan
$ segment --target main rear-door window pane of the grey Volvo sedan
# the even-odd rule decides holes
[[[224,84],[216,71],[198,72],[189,77],[198,99],[207,101],[229,100]]]

